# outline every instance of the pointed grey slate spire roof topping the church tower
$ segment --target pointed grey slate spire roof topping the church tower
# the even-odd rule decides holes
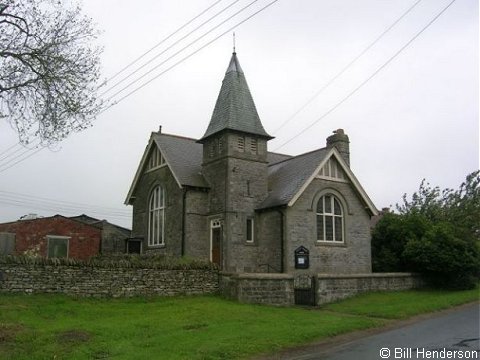
[[[227,129],[259,135],[268,139],[273,138],[263,128],[235,52],[232,54],[225,73],[210,124],[199,142],[203,142],[209,136]]]

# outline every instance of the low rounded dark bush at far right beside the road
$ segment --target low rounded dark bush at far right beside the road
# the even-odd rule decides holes
[[[443,288],[475,287],[480,267],[478,245],[455,236],[448,223],[438,223],[420,238],[410,239],[403,251],[407,267]]]

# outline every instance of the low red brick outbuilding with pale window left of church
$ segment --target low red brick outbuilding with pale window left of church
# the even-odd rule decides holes
[[[15,255],[28,251],[43,257],[75,259],[99,254],[102,238],[98,227],[61,215],[3,223],[0,233],[10,234],[11,240],[14,239]]]

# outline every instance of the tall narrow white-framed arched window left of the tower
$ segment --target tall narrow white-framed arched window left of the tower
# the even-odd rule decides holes
[[[153,189],[148,202],[148,246],[164,245],[165,191],[161,186]]]

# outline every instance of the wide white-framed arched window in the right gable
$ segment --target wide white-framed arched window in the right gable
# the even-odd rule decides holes
[[[343,209],[332,194],[323,195],[317,203],[317,241],[343,242]]]

